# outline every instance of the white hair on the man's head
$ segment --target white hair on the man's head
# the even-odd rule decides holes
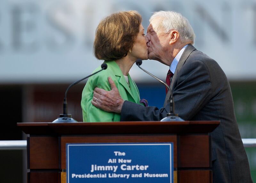
[[[154,12],[154,14],[150,17],[149,22],[155,18],[162,18],[161,23],[164,33],[177,30],[180,33],[180,41],[182,43],[192,41],[192,44],[194,44],[196,38],[194,30],[191,27],[188,19],[183,17],[180,13],[172,11]]]

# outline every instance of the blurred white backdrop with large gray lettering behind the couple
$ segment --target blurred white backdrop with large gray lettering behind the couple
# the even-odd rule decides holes
[[[0,83],[67,83],[89,75],[102,61],[92,45],[99,21],[112,12],[137,10],[148,26],[152,12],[180,12],[196,33],[195,47],[215,59],[230,80],[256,79],[254,0],[1,0]],[[164,79],[157,61],[143,68]],[[153,78],[136,65],[135,82]]]

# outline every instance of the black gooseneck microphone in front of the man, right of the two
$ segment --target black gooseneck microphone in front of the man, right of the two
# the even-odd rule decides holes
[[[147,74],[149,74],[150,76],[154,77],[157,81],[159,81],[160,83],[164,84],[167,89],[171,92],[171,95],[170,95],[170,113],[167,113],[166,114],[166,117],[163,118],[161,120],[161,122],[163,121],[184,121],[183,119],[181,119],[178,114],[175,114],[174,113],[174,100],[173,100],[173,96],[172,96],[172,90],[171,88],[165,83],[163,82],[161,79],[159,79],[158,77],[154,76],[153,74],[149,73],[148,71],[146,71],[145,69],[141,68],[140,65],[142,64],[142,60],[141,59],[137,59],[136,60],[136,65],[141,69],[143,70],[144,72],[146,72]]]

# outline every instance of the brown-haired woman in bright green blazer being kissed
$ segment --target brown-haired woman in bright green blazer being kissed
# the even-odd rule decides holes
[[[91,103],[95,87],[111,90],[109,76],[124,100],[140,104],[139,90],[129,71],[137,59],[148,59],[147,38],[141,21],[138,12],[125,11],[109,15],[98,25],[94,54],[97,59],[104,60],[108,68],[91,76],[84,87],[81,101],[84,122],[120,121],[120,114],[105,112]],[[100,67],[93,72],[98,70]]]

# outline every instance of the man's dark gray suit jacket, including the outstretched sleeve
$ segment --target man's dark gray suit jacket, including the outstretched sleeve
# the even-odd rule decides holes
[[[236,123],[228,79],[215,60],[188,44],[170,88],[175,113],[187,121],[220,120],[212,136],[213,182],[252,182],[249,163]],[[167,93],[164,107],[143,107],[125,101],[121,121],[160,121],[170,111]]]

